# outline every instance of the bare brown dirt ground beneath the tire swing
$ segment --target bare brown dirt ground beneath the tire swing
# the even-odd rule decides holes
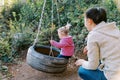
[[[31,68],[23,57],[17,64],[9,66],[9,72],[12,74],[9,80],[81,80],[77,74],[78,67],[74,65],[74,62],[75,59],[71,58],[67,70],[59,74],[50,74]]]

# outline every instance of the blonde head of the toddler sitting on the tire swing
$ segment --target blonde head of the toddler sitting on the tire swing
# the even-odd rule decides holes
[[[58,29],[58,36],[59,36],[59,38],[62,38],[64,36],[68,36],[70,26],[71,26],[70,24],[67,24],[67,25],[65,25],[63,27],[60,27]]]

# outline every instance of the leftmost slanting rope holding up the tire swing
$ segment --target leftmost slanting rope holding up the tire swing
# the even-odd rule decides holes
[[[37,32],[36,39],[34,40],[33,46],[35,46],[35,44],[38,41],[38,36],[39,36],[39,33],[40,33],[40,28],[41,28],[41,24],[42,24],[42,19],[43,19],[43,13],[44,13],[44,10],[45,10],[45,5],[46,5],[46,0],[44,0],[44,4],[43,4],[43,8],[42,8],[42,13],[41,13],[41,18],[39,20],[38,32]]]

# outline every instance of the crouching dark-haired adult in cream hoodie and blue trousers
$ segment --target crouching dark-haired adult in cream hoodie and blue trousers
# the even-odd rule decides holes
[[[104,8],[91,8],[85,12],[84,23],[89,31],[88,60],[75,64],[83,80],[120,80],[120,30],[115,22],[107,23]]]

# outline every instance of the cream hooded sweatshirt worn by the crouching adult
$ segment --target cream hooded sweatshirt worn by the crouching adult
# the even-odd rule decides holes
[[[82,64],[84,68],[99,68],[107,80],[120,80],[120,30],[115,22],[101,22],[89,32],[87,49],[88,61]]]

